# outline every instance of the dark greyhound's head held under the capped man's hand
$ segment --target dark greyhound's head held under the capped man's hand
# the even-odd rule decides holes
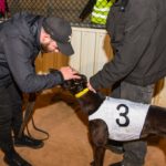
[[[81,79],[68,80],[62,84],[62,87],[70,91],[73,95],[86,89],[87,79],[83,74],[79,74]]]

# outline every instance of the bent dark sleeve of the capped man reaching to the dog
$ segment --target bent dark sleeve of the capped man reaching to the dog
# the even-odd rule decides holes
[[[35,73],[29,46],[19,37],[7,39],[3,46],[10,72],[20,90],[31,93],[61,84],[63,76],[59,71],[46,75]]]

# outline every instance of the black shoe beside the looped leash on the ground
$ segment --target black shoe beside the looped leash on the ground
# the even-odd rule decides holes
[[[40,139],[22,135],[21,138],[18,137],[14,138],[14,145],[18,147],[27,146],[31,148],[41,148],[44,146],[44,143]]]

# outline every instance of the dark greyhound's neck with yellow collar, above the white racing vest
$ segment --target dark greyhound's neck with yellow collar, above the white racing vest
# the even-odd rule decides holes
[[[91,115],[101,106],[105,97],[102,97],[98,93],[93,93],[89,89],[84,89],[77,94],[75,94],[82,111]]]

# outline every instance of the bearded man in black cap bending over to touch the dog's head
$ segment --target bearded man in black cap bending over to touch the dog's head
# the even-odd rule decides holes
[[[79,79],[76,71],[63,66],[46,75],[35,73],[34,60],[40,51],[73,54],[71,25],[60,18],[43,18],[25,12],[0,24],[0,147],[10,166],[31,166],[14,149],[14,145],[40,148],[42,141],[22,133],[21,92],[50,89],[64,80]]]

